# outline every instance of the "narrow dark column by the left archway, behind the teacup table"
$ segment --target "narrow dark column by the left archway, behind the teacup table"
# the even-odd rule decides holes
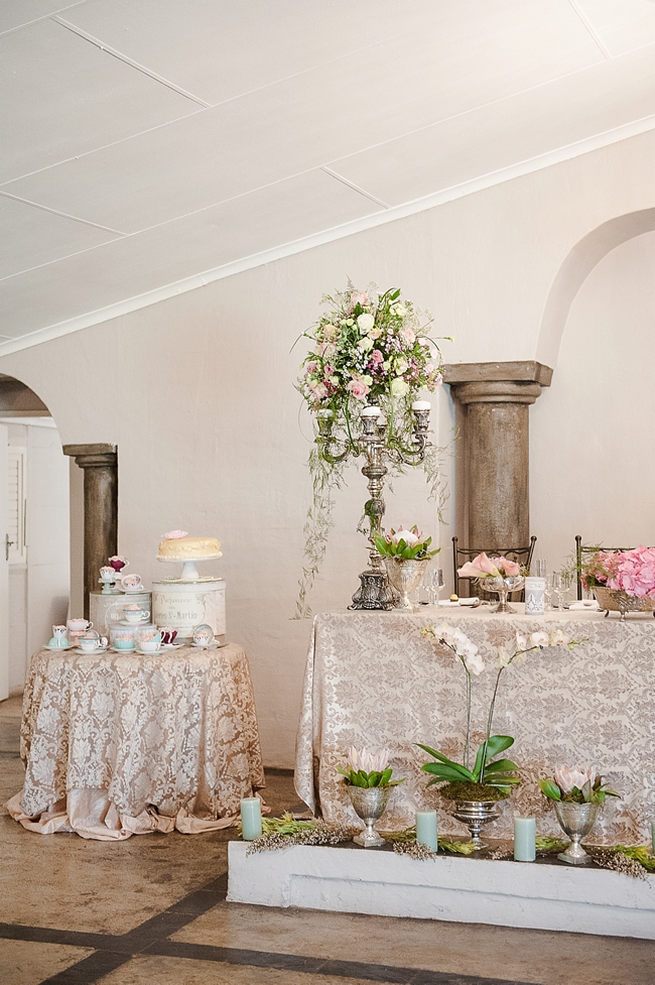
[[[118,548],[118,455],[116,445],[64,445],[84,469],[84,615],[99,568]]]

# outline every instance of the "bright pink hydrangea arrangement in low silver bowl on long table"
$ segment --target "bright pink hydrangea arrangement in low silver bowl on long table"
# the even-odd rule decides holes
[[[598,549],[580,568],[583,588],[592,591],[606,615],[618,610],[655,610],[655,547],[628,551]]]

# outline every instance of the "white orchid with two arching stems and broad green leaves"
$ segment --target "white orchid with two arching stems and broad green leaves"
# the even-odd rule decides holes
[[[438,628],[426,626],[422,633],[433,636],[437,642],[448,647],[457,657],[466,673],[466,739],[464,744],[464,760],[459,763],[431,746],[417,745],[428,755],[432,756],[436,762],[423,763],[421,769],[430,774],[431,779],[428,786],[435,783],[447,783],[448,787],[442,788],[442,793],[453,798],[458,793],[458,786],[462,784],[474,784],[477,789],[473,795],[467,796],[468,800],[479,800],[484,797],[486,800],[502,799],[509,796],[511,788],[520,783],[517,776],[518,766],[511,759],[496,759],[500,753],[509,749],[514,744],[511,735],[492,735],[494,709],[500,679],[507,667],[514,663],[517,658],[523,657],[534,650],[543,650],[551,646],[567,646],[572,649],[580,645],[578,640],[568,640],[561,630],[553,632],[535,632],[529,636],[517,633],[514,645],[499,647],[498,669],[494,683],[489,713],[487,715],[486,732],[484,741],[475,753],[473,764],[471,764],[471,699],[473,695],[473,676],[478,676],[484,671],[484,661],[480,656],[478,647],[466,636],[462,630],[457,629],[446,623]],[[477,796],[474,794],[477,793]]]

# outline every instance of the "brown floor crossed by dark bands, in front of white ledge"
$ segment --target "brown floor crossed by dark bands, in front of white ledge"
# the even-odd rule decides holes
[[[20,789],[0,703],[0,803]],[[269,772],[273,813],[292,779]],[[125,842],[25,831],[0,807],[2,985],[653,985],[655,944],[226,903],[234,831]]]

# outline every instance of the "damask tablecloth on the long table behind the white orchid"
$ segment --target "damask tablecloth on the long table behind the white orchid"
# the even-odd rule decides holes
[[[522,606],[516,605],[517,610]],[[513,663],[501,678],[493,732],[512,735],[505,753],[520,766],[522,783],[501,808],[489,837],[512,833],[513,814],[537,817],[539,834],[561,835],[539,775],[560,764],[589,764],[622,799],[608,798],[592,840],[644,844],[655,815],[655,620],[650,614],[605,619],[593,611],[544,616],[477,609],[424,612],[347,612],[316,616],[307,658],[296,747],[295,786],[315,813],[334,823],[359,824],[337,766],[351,745],[388,747],[394,777],[405,777],[389,800],[382,830],[414,824],[417,809],[435,808],[440,830],[465,834],[420,769],[429,745],[462,761],[464,670],[445,647],[421,635],[442,622],[461,628],[480,648],[485,671],[473,679],[473,748],[484,738],[498,667],[498,646],[516,632],[562,629],[585,639],[569,650],[549,647]],[[452,805],[451,805],[452,806]]]

